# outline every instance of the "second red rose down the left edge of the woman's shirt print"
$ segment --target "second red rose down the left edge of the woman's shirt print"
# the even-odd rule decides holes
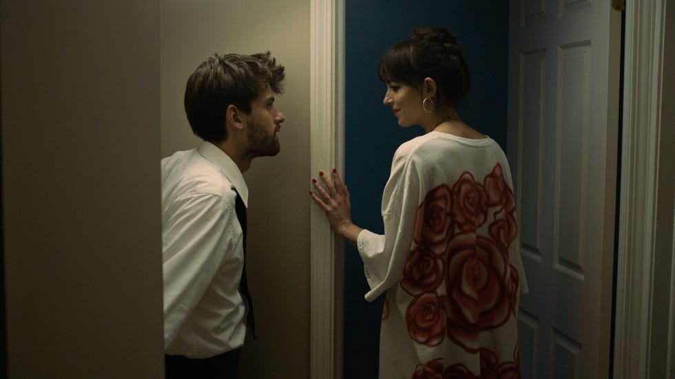
[[[424,245],[411,252],[403,270],[401,287],[413,296],[434,291],[444,279],[445,262]]]

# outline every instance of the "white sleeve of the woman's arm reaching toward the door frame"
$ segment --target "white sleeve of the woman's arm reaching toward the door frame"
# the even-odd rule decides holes
[[[382,195],[384,235],[370,230],[358,235],[357,248],[371,288],[365,295],[367,301],[375,300],[397,283],[408,260],[419,204],[418,169],[412,155],[397,151]]]

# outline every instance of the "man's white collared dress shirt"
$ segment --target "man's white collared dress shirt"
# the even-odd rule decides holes
[[[235,210],[237,192],[248,204],[244,177],[209,142],[164,158],[161,170],[165,353],[209,358],[237,349],[247,312]]]

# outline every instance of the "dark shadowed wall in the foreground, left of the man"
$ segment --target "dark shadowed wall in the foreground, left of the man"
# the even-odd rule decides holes
[[[0,19],[10,378],[160,378],[158,3]]]

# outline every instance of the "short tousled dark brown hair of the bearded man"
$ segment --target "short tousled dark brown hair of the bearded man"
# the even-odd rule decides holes
[[[205,141],[224,141],[227,107],[251,113],[251,102],[268,84],[275,94],[283,92],[284,76],[284,66],[270,52],[214,54],[197,67],[185,86],[185,113],[192,131]]]

